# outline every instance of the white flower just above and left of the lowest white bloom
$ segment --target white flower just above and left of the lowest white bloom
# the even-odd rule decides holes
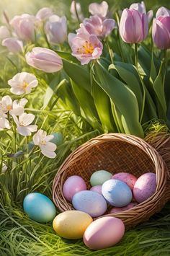
[[[37,131],[37,125],[30,125],[35,119],[35,115],[22,113],[19,118],[16,115],[12,115],[12,117],[17,124],[17,133],[23,136],[30,136],[32,132]]]

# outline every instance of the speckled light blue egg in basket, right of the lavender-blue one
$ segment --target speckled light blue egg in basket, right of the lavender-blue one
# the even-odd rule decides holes
[[[130,187],[121,180],[107,180],[102,185],[102,195],[115,207],[127,206],[133,198]]]

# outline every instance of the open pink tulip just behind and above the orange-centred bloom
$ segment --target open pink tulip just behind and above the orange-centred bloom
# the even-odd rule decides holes
[[[84,27],[89,34],[97,35],[100,39],[107,37],[117,27],[114,19],[101,19],[99,16],[91,16],[84,19]]]

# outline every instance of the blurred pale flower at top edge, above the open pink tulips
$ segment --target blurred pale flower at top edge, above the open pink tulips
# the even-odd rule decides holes
[[[105,18],[108,12],[108,4],[106,1],[102,1],[101,4],[97,4],[97,3],[89,4],[89,12],[92,15],[97,15],[99,17]]]

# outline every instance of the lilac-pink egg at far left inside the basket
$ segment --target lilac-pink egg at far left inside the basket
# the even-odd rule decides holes
[[[73,195],[81,190],[86,190],[85,181],[78,175],[68,177],[63,185],[63,195],[68,201],[72,201]]]

